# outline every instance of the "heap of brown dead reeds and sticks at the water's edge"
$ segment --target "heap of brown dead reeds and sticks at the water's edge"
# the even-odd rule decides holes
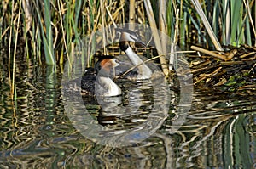
[[[224,54],[191,47],[198,55],[190,55],[190,69],[195,87],[215,93],[256,95],[256,47],[225,47]]]

